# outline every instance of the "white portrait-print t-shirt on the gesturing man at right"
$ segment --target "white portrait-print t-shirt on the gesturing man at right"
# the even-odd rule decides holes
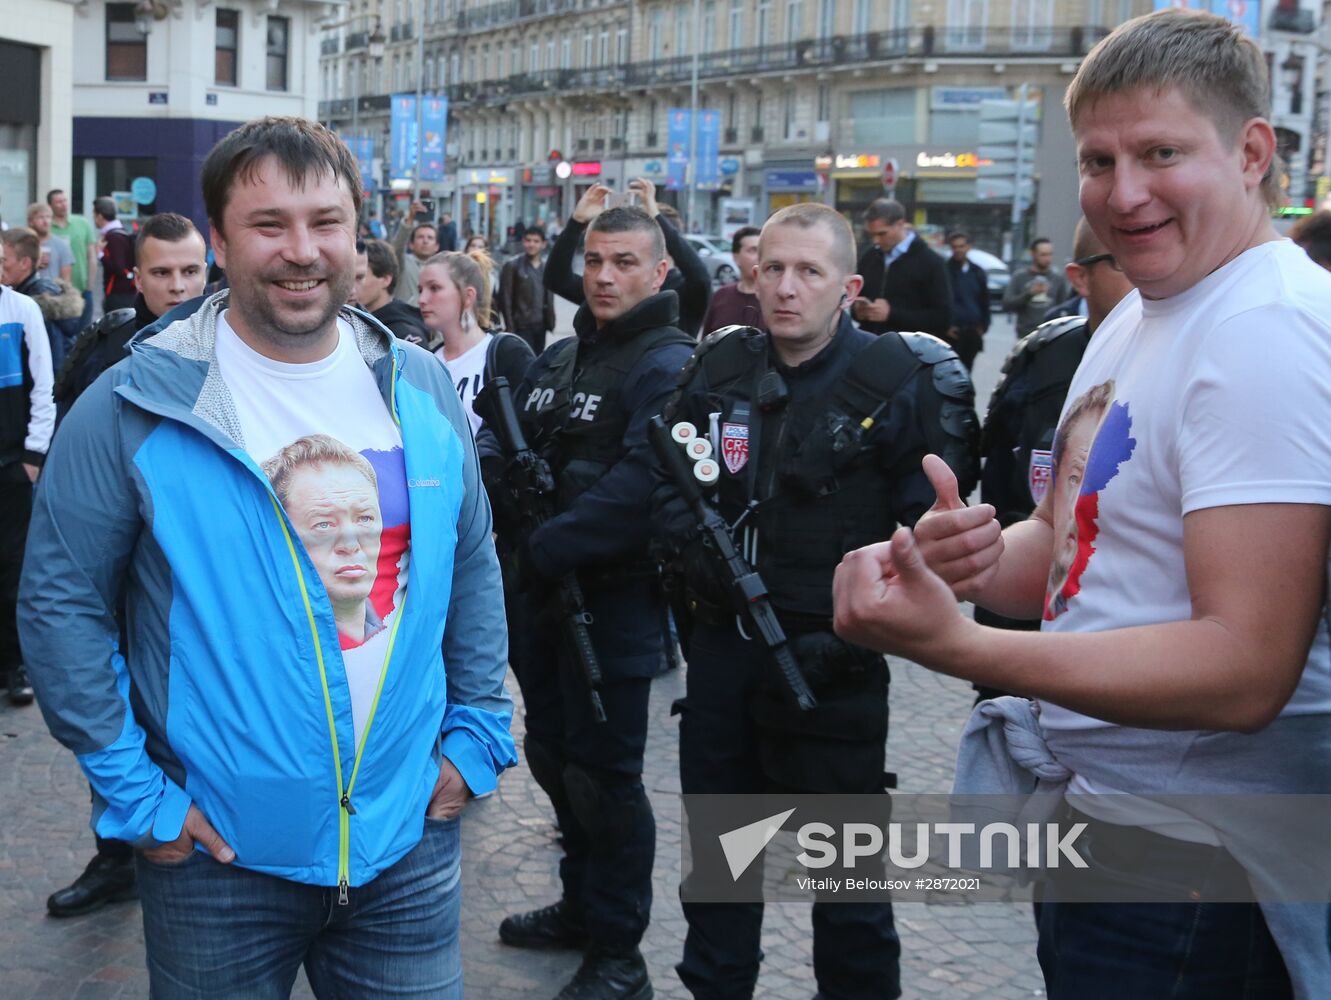
[[[1041,627],[1098,632],[1189,621],[1186,514],[1248,503],[1331,506],[1331,274],[1280,240],[1247,250],[1182,294],[1147,301],[1130,293],[1091,338],[1063,417],[1095,399],[1107,405],[1093,407],[1089,458],[1066,459],[1063,469],[1055,461],[1054,571]],[[1070,474],[1079,482],[1059,490]],[[1331,714],[1324,618],[1282,712],[1314,714]],[[1113,727],[1050,702],[1041,703],[1040,718],[1063,739]],[[1187,791],[1193,750],[1214,738],[1113,728],[1125,746],[1158,758],[1159,774],[1179,791]],[[1133,791],[1115,780],[1111,755],[1095,768],[1077,774],[1069,792]],[[1078,808],[1123,823],[1111,803],[1129,798],[1087,798]],[[1210,839],[1169,812],[1134,824]]]

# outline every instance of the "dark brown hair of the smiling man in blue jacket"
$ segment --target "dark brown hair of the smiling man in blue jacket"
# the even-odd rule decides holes
[[[266,117],[246,121],[224,136],[204,160],[204,208],[217,232],[222,232],[232,186],[253,180],[260,164],[270,156],[297,188],[302,188],[311,173],[330,173],[346,186],[355,214],[361,214],[361,168],[346,142],[317,121]]]

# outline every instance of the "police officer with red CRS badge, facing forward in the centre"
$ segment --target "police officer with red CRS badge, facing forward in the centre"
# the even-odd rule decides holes
[[[780,694],[769,654],[737,627],[659,467],[654,509],[680,553],[693,611],[679,706],[685,794],[884,794],[888,783],[886,662],[832,634],[832,574],[847,551],[929,509],[926,453],[969,489],[978,422],[966,370],[942,341],[873,336],[852,322],[853,270],[855,238],[840,214],[815,204],[777,212],[763,228],[757,273],[769,333],[712,334],[667,406],[668,422],[713,438],[713,503],[763,575],[817,699],[801,712]],[[692,995],[752,996],[761,904],[685,901],[684,915],[677,972]],[[897,996],[898,956],[890,903],[815,903],[820,997]]]

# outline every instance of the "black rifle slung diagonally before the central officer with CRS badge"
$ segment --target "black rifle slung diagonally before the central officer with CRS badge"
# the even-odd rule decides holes
[[[735,547],[725,519],[703,497],[688,455],[671,435],[660,415],[651,418],[647,434],[671,482],[697,519],[701,530],[700,541],[712,553],[716,567],[723,574],[735,613],[744,615],[755,626],[759,639],[776,660],[787,692],[801,711],[809,711],[817,702],[804,680],[804,674],[800,672],[800,664],[791,651],[791,642],[785,638],[781,623],[776,621],[776,611],[772,610],[772,602],[767,597],[767,585]]]

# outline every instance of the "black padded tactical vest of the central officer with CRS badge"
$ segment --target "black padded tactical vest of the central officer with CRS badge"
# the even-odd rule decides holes
[[[896,397],[913,383],[916,405],[929,411],[921,413],[921,422],[938,429],[934,442],[918,442],[918,457],[928,449],[949,458],[944,421],[952,422],[966,441],[952,449],[949,463],[965,454],[958,478],[973,482],[973,390],[961,362],[937,338],[886,333],[851,357],[827,391],[764,413],[760,383],[771,362],[760,336],[732,333],[700,361],[720,407],[716,503],[727,522],[740,522],[736,543],[757,565],[773,603],[785,613],[825,619],[841,557],[889,538],[897,527],[893,469],[876,425],[886,421]],[[949,377],[949,360],[960,382]],[[922,377],[928,370],[933,378]],[[708,427],[699,431],[707,434]]]

